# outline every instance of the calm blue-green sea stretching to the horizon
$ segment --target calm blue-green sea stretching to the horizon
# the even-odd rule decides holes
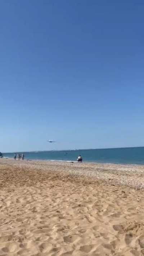
[[[24,154],[28,160],[76,161],[81,155],[85,162],[114,164],[144,164],[144,147],[107,148],[62,151],[14,152]],[[14,153],[3,153],[5,158],[13,158]]]

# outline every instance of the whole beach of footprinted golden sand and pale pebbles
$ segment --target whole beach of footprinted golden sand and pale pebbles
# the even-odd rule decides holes
[[[0,159],[0,256],[144,255],[144,166]]]

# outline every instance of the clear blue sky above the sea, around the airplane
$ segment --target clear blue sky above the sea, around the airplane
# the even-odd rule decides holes
[[[1,0],[0,151],[144,146],[143,28],[144,1]]]

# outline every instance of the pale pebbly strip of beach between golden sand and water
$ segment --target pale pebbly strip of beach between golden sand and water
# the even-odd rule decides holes
[[[56,172],[65,175],[79,176],[93,180],[102,180],[109,184],[126,185],[144,189],[144,165],[101,164],[90,162],[67,162],[49,160],[14,160],[0,159],[0,165],[30,168],[45,172]]]

